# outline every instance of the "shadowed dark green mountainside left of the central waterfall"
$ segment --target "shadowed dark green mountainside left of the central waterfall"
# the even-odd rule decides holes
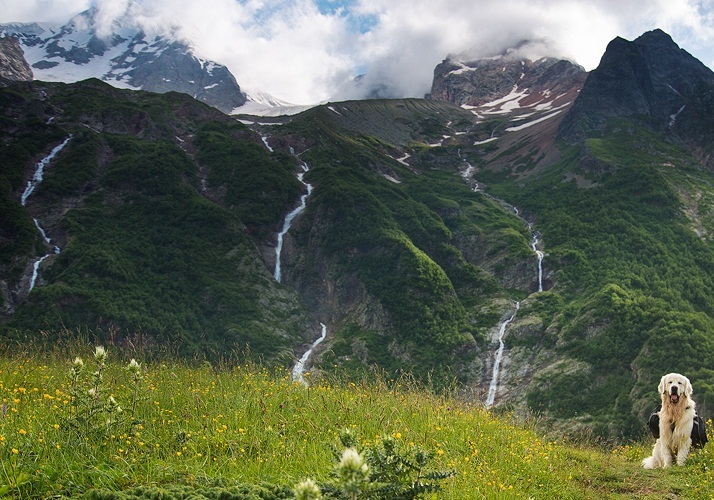
[[[88,81],[6,89],[2,99],[0,265],[13,288],[22,290],[28,259],[49,251],[17,193],[34,163],[73,134],[28,202],[62,251],[42,286],[13,304],[6,336],[46,330],[52,340],[64,325],[183,355],[249,348],[292,358],[305,312],[256,244],[299,195],[294,159],[269,155],[244,126],[180,94]]]

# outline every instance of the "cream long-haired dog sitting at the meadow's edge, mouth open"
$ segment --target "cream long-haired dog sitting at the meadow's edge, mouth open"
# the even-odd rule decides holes
[[[694,408],[692,384],[679,373],[669,373],[659,383],[662,409],[659,411],[659,439],[652,450],[652,456],[642,461],[645,469],[665,468],[676,459],[677,465],[684,465],[692,445]]]

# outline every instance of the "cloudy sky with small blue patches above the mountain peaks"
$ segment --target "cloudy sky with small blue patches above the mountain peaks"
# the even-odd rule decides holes
[[[661,28],[714,67],[714,0],[0,0],[0,22],[66,22],[90,4],[107,30],[178,32],[242,87],[296,104],[339,97],[362,72],[420,97],[448,55],[526,38],[593,69],[614,37]]]

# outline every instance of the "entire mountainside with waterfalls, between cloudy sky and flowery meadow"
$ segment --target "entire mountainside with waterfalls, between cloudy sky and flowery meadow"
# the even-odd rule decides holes
[[[87,38],[116,65],[75,83],[0,46],[4,341],[409,372],[614,438],[677,371],[711,416],[714,73],[666,33],[590,73],[523,46],[450,56],[424,99],[270,119],[139,85],[171,78],[137,36]]]

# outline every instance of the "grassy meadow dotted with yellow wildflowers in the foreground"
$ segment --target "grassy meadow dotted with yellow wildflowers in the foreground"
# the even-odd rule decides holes
[[[261,498],[291,498],[305,478],[332,481],[345,429],[366,447],[390,440],[404,453],[422,449],[431,457],[427,468],[455,472],[425,498],[714,494],[711,448],[685,467],[645,471],[639,462],[649,440],[549,439],[532,424],[434,395],[407,378],[315,379],[304,387],[254,364],[154,361],[131,371],[113,349],[99,370],[92,352],[75,345],[0,356],[0,494],[171,498],[261,485],[268,495]],[[84,360],[81,371],[75,356]]]

